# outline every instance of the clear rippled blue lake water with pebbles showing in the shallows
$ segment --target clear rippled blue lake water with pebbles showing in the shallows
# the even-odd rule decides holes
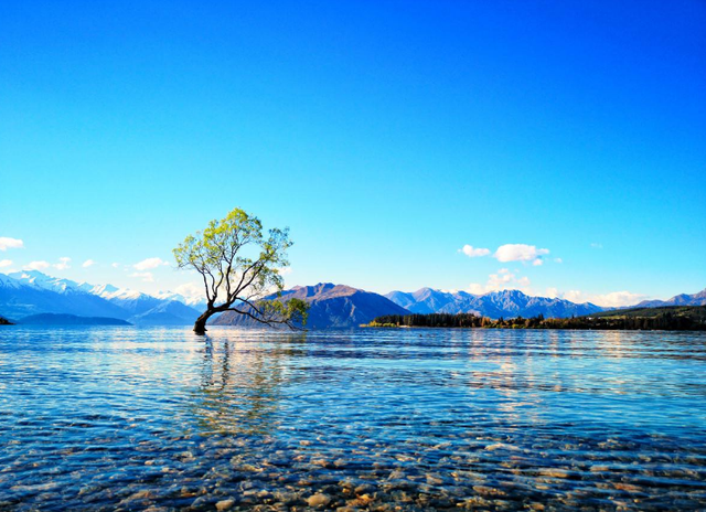
[[[0,328],[0,510],[706,510],[706,334]]]

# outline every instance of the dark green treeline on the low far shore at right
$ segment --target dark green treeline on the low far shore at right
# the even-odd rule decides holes
[[[616,310],[577,318],[544,318],[538,314],[506,320],[472,313],[389,314],[377,317],[363,327],[704,331],[706,306]]]

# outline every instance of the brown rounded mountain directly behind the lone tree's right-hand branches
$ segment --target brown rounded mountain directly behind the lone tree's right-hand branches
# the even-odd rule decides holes
[[[275,298],[271,296],[270,298]],[[282,291],[280,300],[302,299],[309,302],[307,328],[350,328],[367,323],[381,314],[408,314],[405,308],[382,295],[359,290],[344,285],[322,282],[315,286],[298,286]],[[242,314],[226,311],[214,326],[260,326]]]

